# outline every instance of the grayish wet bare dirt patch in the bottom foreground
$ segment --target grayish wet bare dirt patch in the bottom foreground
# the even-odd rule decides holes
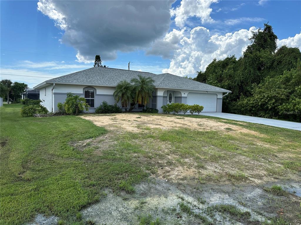
[[[296,183],[286,183],[301,188]],[[295,195],[273,195],[256,185],[187,185],[158,178],[136,185],[134,194],[106,193],[99,202],[82,210],[85,220],[96,224],[139,224],[139,217],[151,215],[166,225],[258,225],[280,213],[286,219],[295,218],[300,203]],[[218,210],[219,206],[224,211]],[[247,217],[234,216],[233,211]],[[292,222],[300,224],[294,219]]]

